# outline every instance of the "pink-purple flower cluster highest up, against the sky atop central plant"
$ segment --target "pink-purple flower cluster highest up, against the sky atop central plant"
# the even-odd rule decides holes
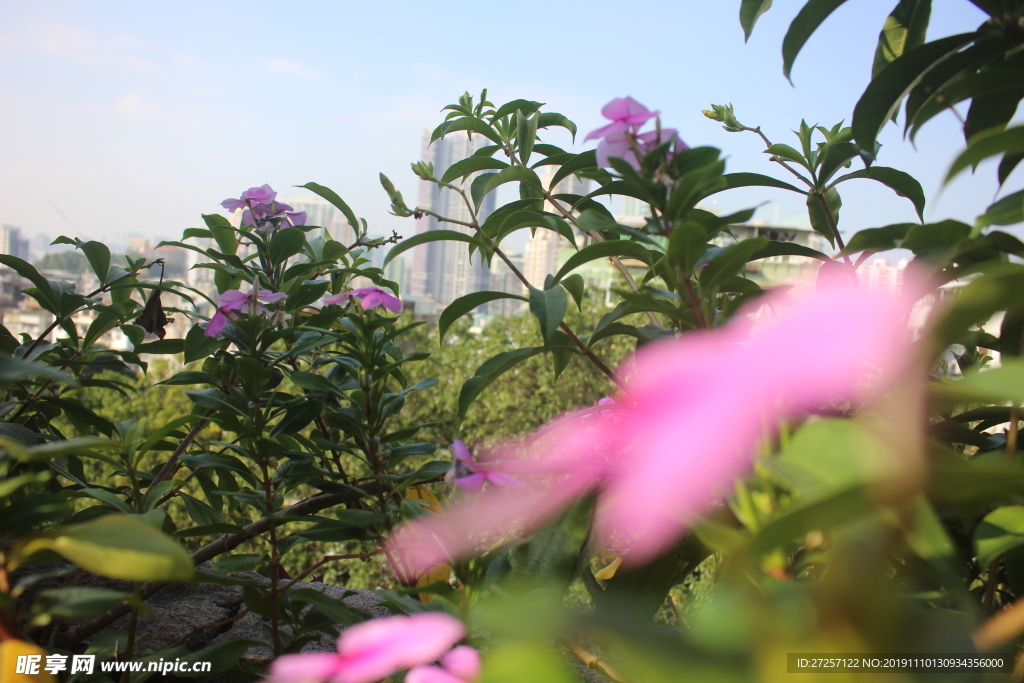
[[[640,170],[640,159],[663,142],[673,142],[673,148],[688,150],[675,128],[656,127],[641,133],[640,129],[659,112],[651,112],[632,97],[615,97],[601,109],[606,126],[591,131],[586,140],[601,140],[597,144],[597,165],[608,166],[609,157],[617,157]]]

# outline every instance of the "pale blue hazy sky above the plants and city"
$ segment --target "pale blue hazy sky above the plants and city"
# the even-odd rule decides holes
[[[483,87],[497,103],[547,102],[578,123],[578,140],[601,124],[604,102],[629,94],[690,145],[723,148],[727,170],[778,175],[756,136],[726,133],[700,110],[731,101],[740,121],[790,143],[801,118],[849,121],[895,2],[841,7],[798,59],[796,87],[780,45],[802,0],[776,0],[745,45],[738,4],[0,0],[0,221],[51,237],[172,237],[246,187],[269,182],[284,195],[312,180],[375,231],[408,234],[412,222],[387,213],[378,172],[415,200],[409,164],[422,129]],[[930,38],[983,18],[966,0],[935,5]],[[926,126],[916,150],[901,135],[887,128],[880,163],[922,181],[926,219],[970,222],[991,203],[991,166],[939,193],[963,144],[951,116]],[[719,201],[765,204],[766,219],[776,206],[782,216],[803,208],[770,189]],[[843,201],[848,233],[914,219],[909,202],[871,181],[845,183]]]

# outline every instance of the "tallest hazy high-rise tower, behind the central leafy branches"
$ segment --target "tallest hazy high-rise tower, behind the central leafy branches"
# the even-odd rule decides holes
[[[423,147],[421,159],[434,165],[434,177],[441,177],[452,164],[472,155],[488,144],[489,140],[481,135],[472,137],[459,131],[430,143],[430,131],[423,131]],[[476,174],[466,179],[464,187],[468,194]],[[494,193],[487,196],[476,212],[477,220],[482,222],[496,207]],[[420,181],[419,206],[430,211],[454,218],[469,221],[469,208],[462,196],[446,188]],[[417,232],[425,230],[457,230],[471,234],[472,228],[458,223],[438,221],[433,216],[420,219]],[[478,254],[470,260],[469,250],[464,242],[428,242],[426,248],[417,249],[413,261],[413,278],[410,282],[411,294],[415,296],[430,296],[443,305],[447,305],[461,296],[471,292],[479,292],[487,288],[489,272]]]

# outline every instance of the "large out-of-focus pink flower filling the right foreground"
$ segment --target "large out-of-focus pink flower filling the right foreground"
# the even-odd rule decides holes
[[[615,408],[599,409],[621,419],[582,419],[589,409],[504,447],[502,469],[520,474],[522,489],[460,501],[389,544],[416,575],[528,533],[600,487],[601,547],[628,550],[627,563],[650,559],[750,469],[757,441],[779,420],[893,381],[910,357],[914,294],[819,283],[768,294],[725,328],[649,344],[633,357]]]

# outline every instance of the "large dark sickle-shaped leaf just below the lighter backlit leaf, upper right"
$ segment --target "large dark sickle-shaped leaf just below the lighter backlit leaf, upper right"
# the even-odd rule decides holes
[[[964,33],[926,43],[893,61],[872,79],[853,110],[853,138],[860,148],[873,155],[879,133],[899,109],[903,97],[931,69],[974,38],[975,34]]]

